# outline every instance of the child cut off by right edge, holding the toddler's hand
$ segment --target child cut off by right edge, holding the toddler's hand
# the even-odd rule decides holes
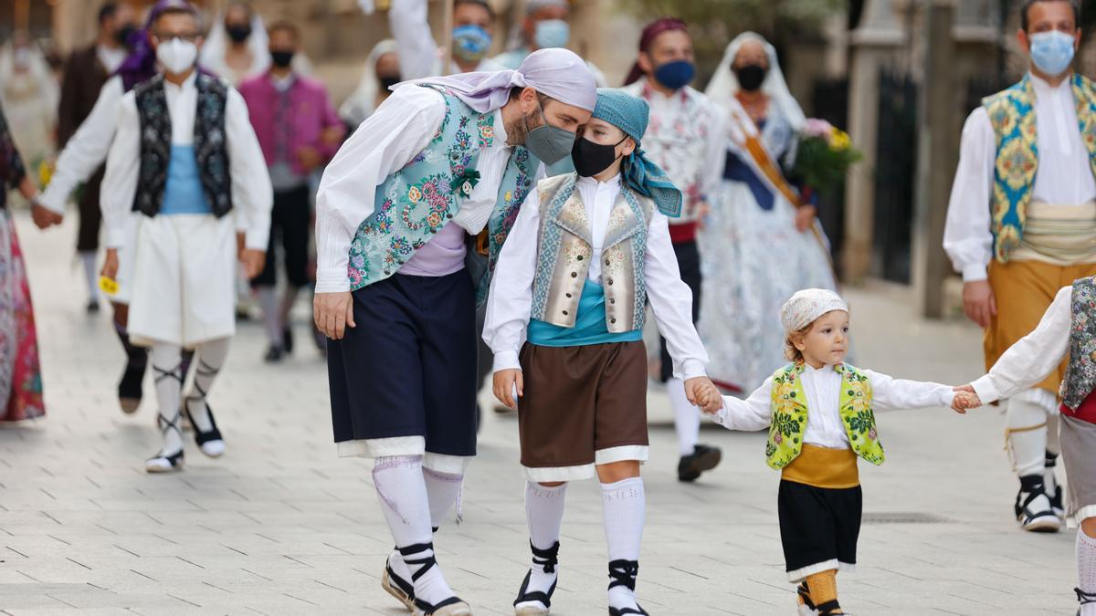
[[[1069,490],[1068,522],[1078,524],[1077,614],[1096,615],[1096,276],[1058,292],[1038,327],[963,389],[978,402],[1007,399],[1040,383],[1069,356],[1058,424]],[[1027,506],[1028,503],[1023,503]]]

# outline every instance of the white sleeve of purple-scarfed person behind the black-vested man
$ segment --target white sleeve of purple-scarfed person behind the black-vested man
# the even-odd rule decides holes
[[[99,91],[99,99],[91,113],[80,124],[80,128],[65,144],[57,158],[46,190],[38,196],[38,203],[46,208],[65,214],[65,202],[72,191],[91,178],[92,173],[106,160],[106,152],[114,140],[114,127],[118,117],[118,104],[125,95],[121,77],[112,77]]]

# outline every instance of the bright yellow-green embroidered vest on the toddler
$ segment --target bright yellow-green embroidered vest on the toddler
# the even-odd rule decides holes
[[[768,430],[765,457],[768,466],[776,469],[791,464],[803,449],[808,413],[807,395],[800,378],[803,369],[803,363],[798,362],[773,375],[773,424]],[[871,381],[848,364],[834,366],[834,370],[841,375],[838,412],[853,450],[871,464],[882,464],[883,446],[879,443],[876,415],[871,411]]]

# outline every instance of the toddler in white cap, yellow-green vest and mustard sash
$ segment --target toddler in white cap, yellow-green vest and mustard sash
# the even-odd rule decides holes
[[[800,614],[844,614],[836,575],[856,567],[863,506],[856,458],[883,461],[872,410],[966,408],[972,397],[845,364],[848,305],[832,290],[796,293],[780,320],[791,363],[745,400],[724,396],[713,419],[728,430],[769,427],[765,456],[781,472],[780,543],[788,578],[799,583]],[[707,409],[707,398],[700,401]]]

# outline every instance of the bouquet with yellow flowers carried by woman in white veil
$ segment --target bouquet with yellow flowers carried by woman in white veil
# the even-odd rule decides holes
[[[799,152],[791,174],[810,190],[833,196],[844,184],[848,168],[863,157],[847,133],[812,117],[799,135]]]

